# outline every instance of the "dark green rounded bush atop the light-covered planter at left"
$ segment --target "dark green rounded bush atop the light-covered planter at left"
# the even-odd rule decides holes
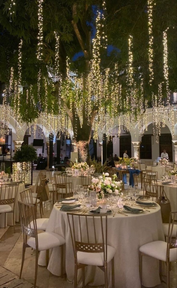
[[[15,162],[31,162],[37,160],[37,150],[31,145],[22,145],[16,149],[13,160]]]

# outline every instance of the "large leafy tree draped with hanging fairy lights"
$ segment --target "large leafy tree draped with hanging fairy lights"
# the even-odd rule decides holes
[[[0,80],[8,84],[13,67],[13,81],[19,84],[21,71],[23,92],[17,97],[18,93],[13,95],[10,91],[12,107],[27,123],[42,111],[58,115],[59,130],[64,131],[71,123],[79,160],[88,161],[91,130],[93,126],[96,130],[97,124],[104,125],[105,115],[112,119],[123,112],[136,120],[141,117],[145,103],[147,107],[146,99],[148,105],[153,102],[152,95],[158,94],[159,85],[163,97],[166,96],[161,83],[164,83],[163,32],[167,28],[168,89],[175,91],[176,1],[157,0],[153,5],[151,85],[146,0],[107,0],[106,3],[14,0],[15,4],[12,3],[1,1],[0,6]],[[39,4],[42,5],[42,40],[39,39]],[[128,39],[132,39],[131,47]],[[41,59],[36,57],[39,48]],[[133,70],[129,67],[130,52]],[[76,73],[75,84],[68,77],[69,69]],[[49,72],[57,75],[54,83],[48,77]]]

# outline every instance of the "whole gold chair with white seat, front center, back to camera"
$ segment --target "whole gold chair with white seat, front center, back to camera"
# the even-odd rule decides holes
[[[107,215],[78,215],[67,213],[74,250],[74,288],[77,287],[77,271],[82,269],[82,287],[85,287],[85,267],[98,266],[105,275],[108,288],[107,264],[112,262],[112,288],[114,288],[115,248],[107,244]],[[99,229],[100,228],[100,229]],[[98,240],[99,239],[99,240]],[[97,257],[99,253],[99,257]]]

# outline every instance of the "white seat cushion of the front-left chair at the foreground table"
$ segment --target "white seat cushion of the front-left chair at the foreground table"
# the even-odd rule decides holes
[[[38,237],[38,250],[39,251],[48,250],[50,248],[54,248],[54,247],[65,244],[65,239],[56,233],[43,232],[43,233],[37,234],[37,237]],[[27,244],[33,249],[35,249],[36,248],[35,238],[30,237],[27,240]]]

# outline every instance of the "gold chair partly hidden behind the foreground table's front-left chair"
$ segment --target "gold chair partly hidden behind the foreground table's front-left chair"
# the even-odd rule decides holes
[[[20,199],[21,199],[21,202],[23,202],[23,203],[35,205],[36,206],[36,214],[37,214],[37,204],[39,203],[40,200],[37,198],[33,198],[31,189],[27,189],[27,190],[20,192]],[[36,215],[36,218],[37,218],[37,215]],[[36,224],[37,224],[37,230],[46,231],[46,227],[48,224],[48,218],[36,219]],[[31,228],[33,228],[33,227],[34,227],[33,222],[31,222]]]

